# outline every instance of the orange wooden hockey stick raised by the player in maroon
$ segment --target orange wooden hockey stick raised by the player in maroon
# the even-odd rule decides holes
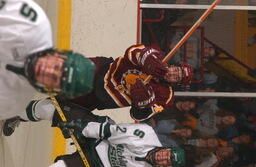
[[[202,24],[202,22],[209,16],[215,6],[217,6],[221,0],[215,0],[211,6],[203,13],[203,15],[197,20],[197,22],[187,31],[187,33],[181,38],[181,40],[174,46],[174,48],[165,56],[163,62],[168,62],[172,56],[178,51],[178,49],[188,40],[188,38],[196,31],[196,29]],[[152,76],[148,76],[144,83],[148,83],[152,79]]]

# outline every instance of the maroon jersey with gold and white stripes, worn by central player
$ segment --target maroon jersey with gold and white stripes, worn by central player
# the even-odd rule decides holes
[[[154,54],[162,59],[162,54],[153,48],[146,48],[144,45],[133,45],[128,48],[123,57],[115,59],[110,65],[104,77],[104,88],[119,107],[131,105],[130,85],[134,84],[137,78],[145,79],[147,74],[142,72],[142,53]],[[164,108],[172,105],[172,87],[160,84],[158,79],[152,79],[148,83],[155,93],[156,103],[154,112],[161,112]]]

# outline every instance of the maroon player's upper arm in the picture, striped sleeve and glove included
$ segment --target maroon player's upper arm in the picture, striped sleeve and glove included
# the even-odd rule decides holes
[[[167,64],[162,62],[163,58],[160,51],[144,45],[133,45],[124,55],[124,61],[140,67],[144,73],[157,78],[164,78],[167,72]]]

